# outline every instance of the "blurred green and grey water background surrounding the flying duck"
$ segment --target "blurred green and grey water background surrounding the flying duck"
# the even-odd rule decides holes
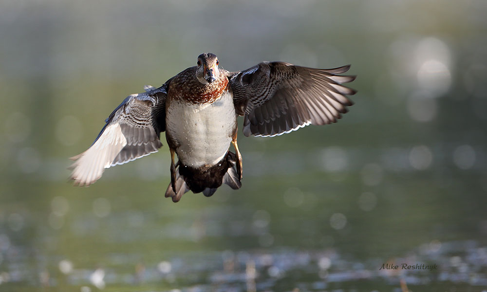
[[[487,289],[486,15],[483,0],[2,0],[0,291]],[[356,104],[336,125],[241,134],[238,191],[165,199],[164,134],[73,187],[67,158],[110,112],[203,52],[229,71],[350,63]]]

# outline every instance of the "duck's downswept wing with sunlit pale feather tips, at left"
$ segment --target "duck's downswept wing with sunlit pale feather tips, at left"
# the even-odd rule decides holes
[[[159,134],[166,130],[168,83],[157,89],[145,86],[146,92],[129,95],[113,110],[92,146],[71,158],[75,185],[88,186],[105,168],[158,151]]]

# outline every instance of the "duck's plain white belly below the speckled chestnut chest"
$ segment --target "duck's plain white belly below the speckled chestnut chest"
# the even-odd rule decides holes
[[[225,91],[211,104],[171,100],[166,113],[166,131],[180,145],[179,160],[188,166],[217,164],[232,141],[237,115],[232,95]]]

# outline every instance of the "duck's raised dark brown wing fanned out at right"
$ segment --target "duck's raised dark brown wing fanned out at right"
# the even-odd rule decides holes
[[[276,136],[307,125],[336,123],[356,91],[341,85],[355,80],[350,65],[314,69],[284,62],[262,62],[231,73],[235,108],[244,115],[245,136]]]

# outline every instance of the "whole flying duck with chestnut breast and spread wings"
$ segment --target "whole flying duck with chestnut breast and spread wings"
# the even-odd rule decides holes
[[[171,183],[166,197],[177,202],[191,190],[207,197],[223,183],[242,186],[242,155],[237,117],[245,136],[273,137],[307,125],[336,123],[356,91],[338,75],[350,65],[314,69],[284,62],[262,62],[228,72],[211,53],[159,88],[129,95],[106,119],[93,145],[71,159],[75,185],[88,186],[104,169],[157,152],[166,131],[171,154]],[[229,151],[233,145],[235,153]],[[178,162],[175,163],[175,156]]]

